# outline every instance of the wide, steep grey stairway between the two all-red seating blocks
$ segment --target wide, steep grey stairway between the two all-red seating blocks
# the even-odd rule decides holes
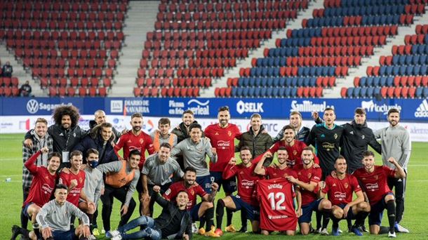
[[[125,27],[125,43],[121,50],[120,65],[116,68],[114,88],[109,93],[110,97],[131,97],[135,84],[135,75],[140,66],[141,49],[146,39],[147,32],[154,30],[153,22],[156,22],[159,1],[130,1]]]

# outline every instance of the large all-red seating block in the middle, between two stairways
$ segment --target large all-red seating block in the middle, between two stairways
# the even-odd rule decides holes
[[[196,97],[200,88],[286,27],[307,0],[166,2],[147,33],[135,96]]]

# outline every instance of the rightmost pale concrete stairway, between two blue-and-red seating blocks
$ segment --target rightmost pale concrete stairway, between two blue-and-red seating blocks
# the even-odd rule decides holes
[[[414,15],[413,24],[406,26],[399,26],[399,34],[393,37],[387,38],[387,44],[384,46],[378,46],[374,48],[374,55],[370,58],[362,58],[361,65],[358,68],[349,68],[349,75],[345,79],[336,79],[336,86],[334,88],[324,89],[325,98],[341,98],[340,89],[342,87],[349,88],[354,86],[354,78],[356,76],[367,76],[366,70],[368,66],[378,66],[379,58],[382,55],[391,55],[392,46],[403,45],[404,37],[407,34],[415,34],[415,27],[418,24],[427,24],[428,19],[428,6],[425,6],[425,13],[422,15]]]

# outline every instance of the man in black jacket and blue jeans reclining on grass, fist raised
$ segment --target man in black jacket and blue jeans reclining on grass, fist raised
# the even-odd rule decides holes
[[[136,218],[117,230],[108,232],[107,237],[113,240],[121,239],[192,239],[192,218],[187,212],[187,202],[189,195],[185,190],[178,192],[176,204],[163,199],[159,194],[161,187],[154,186],[152,195],[154,201],[163,209],[158,218],[153,219],[145,215]],[[141,227],[142,230],[127,234],[131,229]]]

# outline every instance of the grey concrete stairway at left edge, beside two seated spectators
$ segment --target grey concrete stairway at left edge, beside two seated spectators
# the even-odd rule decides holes
[[[7,61],[11,62],[13,67],[12,76],[18,77],[19,79],[18,88],[20,88],[20,86],[28,80],[29,85],[32,86],[32,95],[36,97],[44,97],[46,95],[40,87],[40,82],[34,81],[32,79],[31,73],[25,71],[21,62],[16,60],[13,52],[9,52],[7,50],[6,41],[0,41],[0,60],[1,66],[3,66]]]

